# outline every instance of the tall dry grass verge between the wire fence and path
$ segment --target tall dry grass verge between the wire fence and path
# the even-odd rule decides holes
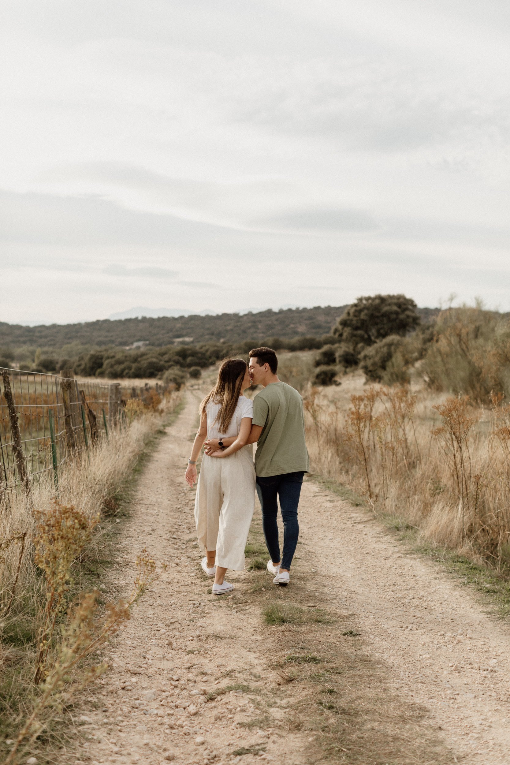
[[[80,565],[103,557],[132,471],[179,404],[178,392],[138,402],[108,440],[61,471],[57,495],[52,477],[43,475],[30,497],[11,494],[0,504],[0,738],[15,742],[5,763],[26,756],[36,737],[50,742],[55,710],[85,677],[81,659],[128,617],[126,608],[155,575],[144,552],[131,602],[112,604],[100,617],[99,591],[83,590]]]

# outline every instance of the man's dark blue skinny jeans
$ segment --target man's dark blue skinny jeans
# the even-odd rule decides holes
[[[284,522],[284,555],[281,558],[281,568],[287,568],[287,570],[291,568],[299,536],[297,505],[303,476],[303,472],[268,477],[257,476],[257,493],[262,508],[262,529],[264,529],[265,543],[268,545],[273,563],[280,561],[280,542],[276,521],[277,497],[280,499],[281,519]]]

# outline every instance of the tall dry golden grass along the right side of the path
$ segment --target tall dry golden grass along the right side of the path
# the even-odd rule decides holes
[[[510,565],[510,406],[370,386],[305,399],[312,470],[355,487],[425,539]]]

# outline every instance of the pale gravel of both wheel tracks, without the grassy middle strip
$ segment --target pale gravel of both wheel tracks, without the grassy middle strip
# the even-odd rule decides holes
[[[127,594],[135,555],[144,546],[168,568],[103,651],[101,658],[112,668],[81,699],[76,763],[325,761],[310,728],[288,724],[297,683],[282,685],[274,662],[281,649],[278,634],[288,643],[296,630],[278,633],[265,625],[261,607],[249,597],[253,573],[229,572],[234,594],[215,598],[200,569],[194,492],[184,483],[200,391],[186,396],[184,411],[138,480],[119,549],[121,568],[110,584],[116,590],[124,586]],[[316,598],[356,626],[363,649],[382,668],[403,708],[413,702],[426,710],[430,729],[454,753],[448,761],[508,763],[505,624],[482,613],[475,597],[436,565],[406,554],[369,513],[310,479],[303,487],[300,527],[294,592],[306,588],[308,600]],[[284,592],[291,595],[292,587]],[[330,643],[345,642],[347,632],[341,630],[338,623],[328,627]],[[304,701],[301,694],[300,708]],[[318,736],[320,726],[317,731]],[[342,761],[363,760],[347,754]]]

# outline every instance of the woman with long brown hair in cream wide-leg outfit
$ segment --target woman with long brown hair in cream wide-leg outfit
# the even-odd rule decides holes
[[[242,359],[225,359],[219,366],[216,385],[200,404],[200,427],[193,441],[185,478],[190,487],[197,480],[197,458],[206,438],[235,437],[223,459],[204,454],[195,521],[203,571],[214,577],[213,594],[234,589],[225,581],[227,568],[242,571],[245,545],[255,508],[255,466],[252,446],[246,445],[252,428],[253,404],[242,396],[249,388],[248,366]]]

